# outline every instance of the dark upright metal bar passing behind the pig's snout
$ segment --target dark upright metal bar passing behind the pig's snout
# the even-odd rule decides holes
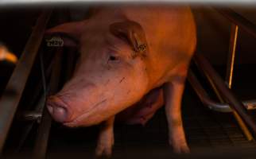
[[[58,49],[58,51],[56,52],[56,56],[54,57],[55,63],[53,64],[53,67],[52,67],[52,76],[49,84],[49,95],[56,93],[56,91],[58,91],[58,88],[59,88],[61,55],[62,55],[62,49]],[[47,107],[45,107],[42,114],[41,123],[38,128],[35,147],[33,149],[34,158],[45,158],[51,124],[52,124],[51,115],[48,113]]]

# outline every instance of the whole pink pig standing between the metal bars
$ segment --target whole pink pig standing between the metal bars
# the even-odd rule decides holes
[[[89,18],[46,33],[59,34],[65,46],[80,52],[72,79],[48,97],[56,122],[69,127],[101,123],[95,153],[109,156],[115,116],[145,124],[165,104],[169,144],[176,153],[189,152],[180,112],[196,49],[189,6],[97,6]]]

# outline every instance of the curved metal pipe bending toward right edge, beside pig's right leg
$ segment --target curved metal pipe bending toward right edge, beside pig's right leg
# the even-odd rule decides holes
[[[188,72],[188,82],[192,85],[194,91],[196,91],[196,95],[199,96],[200,101],[204,103],[204,105],[207,106],[209,109],[211,109],[212,111],[219,111],[223,113],[232,112],[231,107],[227,103],[218,103],[209,97],[207,91],[204,90],[204,87],[202,87],[200,82],[197,80],[192,70],[189,70]],[[256,109],[255,99],[247,100],[242,103],[247,110]]]

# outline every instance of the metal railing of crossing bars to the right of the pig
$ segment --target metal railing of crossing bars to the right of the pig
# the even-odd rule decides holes
[[[231,9],[215,8],[215,10],[232,22],[225,82],[220,78],[218,73],[215,72],[214,68],[211,67],[211,64],[204,58],[204,56],[196,54],[194,56],[194,60],[198,68],[200,68],[204,76],[206,76],[208,81],[211,83],[211,87],[215,91],[220,103],[211,100],[207,91],[204,90],[204,87],[202,87],[202,85],[196,79],[196,76],[193,74],[192,70],[188,72],[188,81],[192,84],[192,87],[196,91],[196,94],[200,97],[200,100],[207,105],[208,108],[214,111],[232,112],[246,138],[251,141],[254,138],[253,135],[250,134],[250,130],[247,128],[247,126],[249,126],[250,129],[254,131],[254,134],[256,134],[256,125],[246,110],[253,110],[256,108],[256,99],[240,102],[231,92],[231,85],[234,73],[235,49],[239,28],[256,38],[256,25],[248,21],[245,17],[242,17],[240,14],[235,13],[235,11]]]

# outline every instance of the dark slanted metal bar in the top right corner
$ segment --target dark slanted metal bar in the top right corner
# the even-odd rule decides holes
[[[239,25],[241,29],[250,33],[254,38],[256,38],[256,25],[247,20],[245,17],[242,17],[240,14],[229,8],[215,8],[220,14],[223,14],[224,17],[232,21],[235,25]]]

